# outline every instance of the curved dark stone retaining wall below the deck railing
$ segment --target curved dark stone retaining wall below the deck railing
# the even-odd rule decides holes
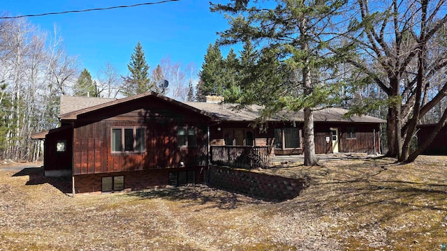
[[[293,199],[309,186],[309,182],[305,178],[285,178],[217,165],[210,167],[208,184],[216,188],[233,190],[272,201]]]

